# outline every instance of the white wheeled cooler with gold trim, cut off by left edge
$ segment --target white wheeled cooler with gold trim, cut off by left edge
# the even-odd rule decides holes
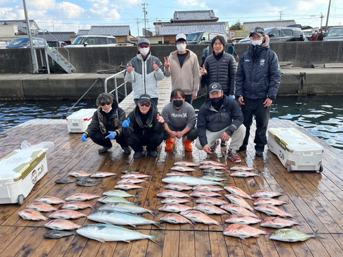
[[[23,204],[47,173],[45,149],[18,149],[0,160],[0,204]]]

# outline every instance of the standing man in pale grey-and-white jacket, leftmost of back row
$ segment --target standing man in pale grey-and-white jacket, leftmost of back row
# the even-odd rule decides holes
[[[137,56],[126,65],[126,80],[132,83],[134,103],[138,103],[140,95],[148,94],[152,99],[154,108],[158,104],[158,81],[162,80],[163,64],[150,52],[150,42],[146,38],[138,41]]]

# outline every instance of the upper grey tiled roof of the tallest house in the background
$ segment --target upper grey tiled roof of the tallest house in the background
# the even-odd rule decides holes
[[[218,21],[213,10],[176,11],[171,23],[197,23]]]

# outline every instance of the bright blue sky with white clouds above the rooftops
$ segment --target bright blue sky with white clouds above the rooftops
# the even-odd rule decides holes
[[[143,5],[147,3],[147,27],[153,22],[170,21],[175,11],[214,10],[219,21],[230,25],[240,21],[275,21],[294,19],[301,25],[320,26],[327,19],[329,0],[26,0],[29,19],[40,29],[74,31],[89,29],[91,25],[130,25],[132,36],[137,36],[137,19],[142,34]],[[0,0],[0,20],[25,19],[23,0]],[[332,0],[329,25],[343,26],[343,0]]]

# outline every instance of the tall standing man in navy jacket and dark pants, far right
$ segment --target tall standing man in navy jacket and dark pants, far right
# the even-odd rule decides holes
[[[269,49],[269,37],[261,27],[250,32],[251,45],[239,60],[236,85],[238,102],[244,115],[246,136],[239,151],[245,151],[250,135],[252,117],[256,118],[255,150],[262,157],[267,144],[267,127],[272,102],[281,81],[278,57]]]

